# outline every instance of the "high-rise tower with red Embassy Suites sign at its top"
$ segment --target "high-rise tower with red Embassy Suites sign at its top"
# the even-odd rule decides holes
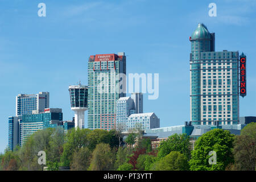
[[[88,61],[88,129],[115,127],[116,104],[126,96],[126,56],[102,54]]]

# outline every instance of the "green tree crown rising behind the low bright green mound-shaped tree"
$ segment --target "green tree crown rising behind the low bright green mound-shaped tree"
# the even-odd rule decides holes
[[[158,147],[158,158],[170,154],[171,151],[178,151],[190,158],[189,136],[186,134],[174,134],[168,137],[166,141],[162,141]]]

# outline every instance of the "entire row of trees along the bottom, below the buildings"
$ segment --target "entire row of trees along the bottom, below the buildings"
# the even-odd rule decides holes
[[[42,170],[38,152],[46,152],[47,170],[255,170],[256,123],[241,130],[241,135],[214,129],[199,137],[192,150],[189,136],[174,134],[156,149],[142,132],[130,133],[122,141],[118,131],[72,129],[40,130],[22,147],[0,155],[1,170]],[[210,163],[216,152],[216,163]]]

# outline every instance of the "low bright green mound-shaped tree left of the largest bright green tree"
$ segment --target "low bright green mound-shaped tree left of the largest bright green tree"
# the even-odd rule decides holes
[[[152,165],[155,171],[187,171],[189,169],[187,157],[180,152],[172,151]]]

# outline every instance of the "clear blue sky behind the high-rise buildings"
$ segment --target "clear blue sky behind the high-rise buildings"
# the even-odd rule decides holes
[[[38,3],[46,3],[46,17]],[[208,5],[217,5],[209,17]],[[240,115],[256,115],[256,1],[0,1],[0,152],[19,93],[50,93],[50,107],[72,119],[69,84],[87,84],[88,57],[125,52],[127,73],[159,73],[159,98],[147,100],[160,127],[189,120],[189,36],[198,23],[216,33],[216,51],[247,54]],[[87,112],[86,112],[87,114]],[[87,115],[85,115],[87,126]]]

